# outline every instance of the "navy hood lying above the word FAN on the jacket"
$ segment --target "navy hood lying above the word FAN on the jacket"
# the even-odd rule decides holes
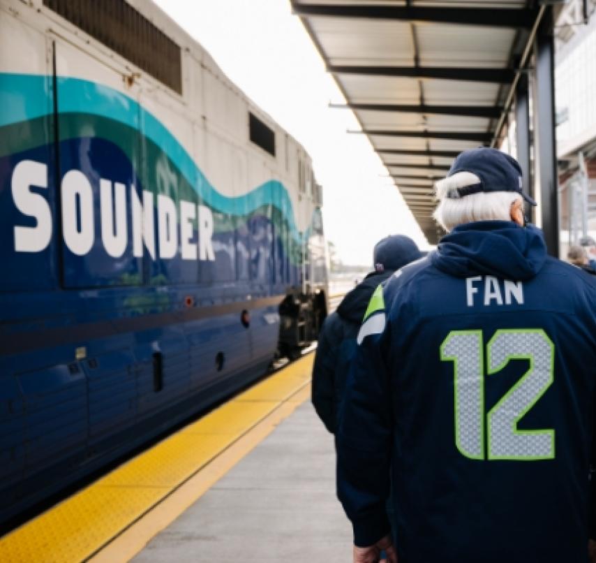
[[[513,221],[477,221],[459,225],[443,237],[433,265],[449,275],[493,275],[524,281],[535,277],[546,260],[542,231]]]

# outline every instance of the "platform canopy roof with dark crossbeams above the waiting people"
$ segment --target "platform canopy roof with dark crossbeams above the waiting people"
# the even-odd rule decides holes
[[[431,244],[433,182],[500,147],[542,8],[526,0],[292,0]]]

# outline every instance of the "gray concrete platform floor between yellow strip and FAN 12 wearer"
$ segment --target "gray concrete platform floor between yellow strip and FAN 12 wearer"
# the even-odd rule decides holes
[[[158,534],[135,563],[347,563],[335,451],[310,402]]]

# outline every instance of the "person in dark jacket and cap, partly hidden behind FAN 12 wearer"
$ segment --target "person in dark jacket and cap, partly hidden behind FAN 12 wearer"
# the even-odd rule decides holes
[[[345,377],[357,344],[356,336],[375,289],[402,266],[422,258],[416,243],[405,235],[385,237],[375,244],[375,270],[345,295],[321,328],[313,368],[313,405],[323,424],[335,434]]]

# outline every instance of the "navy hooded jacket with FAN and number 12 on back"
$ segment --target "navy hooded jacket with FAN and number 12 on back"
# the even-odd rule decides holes
[[[375,293],[337,432],[338,496],[400,563],[586,563],[596,282],[509,221],[459,226]]]

